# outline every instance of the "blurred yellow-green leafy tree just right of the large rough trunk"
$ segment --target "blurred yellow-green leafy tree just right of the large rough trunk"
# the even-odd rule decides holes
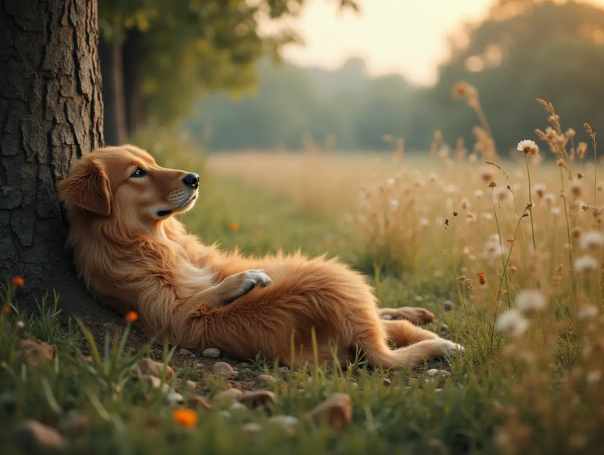
[[[353,0],[337,0],[356,9]],[[105,140],[187,114],[205,91],[256,82],[254,63],[279,57],[293,30],[260,34],[262,18],[295,15],[304,0],[98,0]]]

